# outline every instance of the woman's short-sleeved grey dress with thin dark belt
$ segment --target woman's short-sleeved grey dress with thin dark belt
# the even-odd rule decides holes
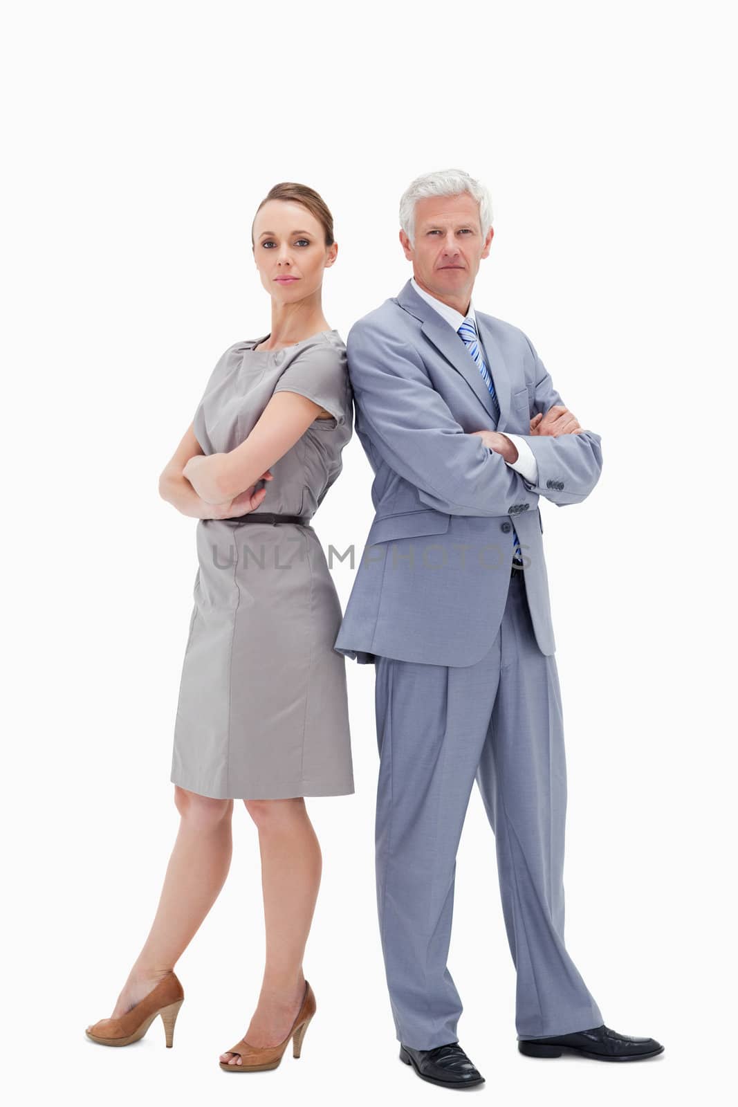
[[[195,413],[205,454],[235,449],[272,393],[299,392],[316,418],[260,482],[259,514],[310,518],[342,469],[353,432],[346,350],[323,331],[283,350],[237,342]],[[283,799],[354,790],[342,612],[311,526],[199,519],[199,568],[185,649],[173,783],[215,798]]]

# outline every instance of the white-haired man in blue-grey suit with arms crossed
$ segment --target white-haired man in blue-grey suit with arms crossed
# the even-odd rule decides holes
[[[471,304],[493,235],[487,189],[427,174],[399,216],[413,278],[346,342],[376,515],[335,641],[376,666],[377,906],[399,1056],[434,1084],[482,1083],[446,965],[476,778],[520,1052],[653,1057],[658,1042],[603,1025],[563,940],[565,762],[538,499],[590,494],[600,435],[563,405],[526,334]]]

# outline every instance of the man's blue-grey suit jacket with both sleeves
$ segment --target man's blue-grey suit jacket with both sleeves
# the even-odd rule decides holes
[[[375,517],[334,649],[471,665],[491,646],[510,582],[511,525],[521,542],[536,640],[555,651],[539,496],[578,504],[600,478],[600,435],[530,434],[563,401],[526,334],[475,309],[500,404],[451,327],[408,281],[346,340],[355,431],[374,472]],[[532,485],[472,431],[526,435]]]

